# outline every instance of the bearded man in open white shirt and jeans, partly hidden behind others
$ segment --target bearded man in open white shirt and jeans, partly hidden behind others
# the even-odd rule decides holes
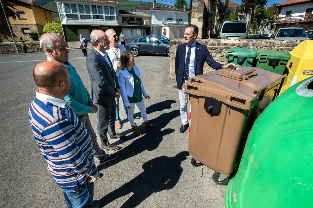
[[[108,36],[108,39],[110,41],[110,49],[106,52],[108,53],[108,56],[112,62],[113,69],[116,73],[116,76],[118,77],[118,74],[121,70],[120,68],[120,56],[121,53],[126,51],[126,48],[122,46],[121,44],[118,44],[118,37],[116,32],[113,29],[108,29],[105,31],[106,36]],[[121,129],[121,118],[120,118],[120,108],[119,108],[120,98],[115,98],[115,104],[116,104],[116,116],[115,116],[115,128]],[[127,108],[123,105],[124,111],[127,117]],[[134,119],[139,119],[139,116],[134,115]]]

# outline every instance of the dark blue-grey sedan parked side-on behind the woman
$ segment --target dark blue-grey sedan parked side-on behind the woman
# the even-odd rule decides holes
[[[161,36],[142,36],[135,40],[126,42],[126,50],[131,51],[134,56],[140,54],[166,54],[170,56],[170,42]]]

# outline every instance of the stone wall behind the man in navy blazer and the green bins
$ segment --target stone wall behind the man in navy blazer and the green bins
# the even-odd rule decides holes
[[[197,39],[197,41],[208,47],[210,54],[214,60],[221,64],[226,64],[226,56],[229,48],[255,48],[255,49],[271,49],[271,50],[285,50],[292,51],[301,42],[299,40],[227,40],[227,39]],[[175,56],[177,46],[184,43],[184,39],[174,39],[170,41],[170,73],[171,79],[175,79]],[[203,73],[206,74],[213,69],[204,63]]]

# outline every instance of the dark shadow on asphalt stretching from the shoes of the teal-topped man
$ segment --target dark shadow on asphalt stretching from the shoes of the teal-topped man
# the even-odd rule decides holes
[[[143,136],[141,136],[140,138],[136,138],[135,134],[131,134],[129,136],[127,136],[126,139],[123,140],[118,140],[114,143],[112,143],[113,145],[119,145],[121,143],[124,143],[125,140],[131,140],[133,138],[136,138],[130,145],[126,146],[125,148],[122,148],[121,150],[119,150],[118,153],[118,157],[113,160],[110,161],[108,163],[105,163],[105,165],[102,166],[98,166],[98,171],[101,171],[105,168],[108,168],[112,165],[117,164],[118,162],[121,162],[123,160],[126,160],[128,158],[131,158],[137,154],[140,154],[141,152],[144,152],[146,150],[148,151],[152,151],[155,150],[159,144],[162,142],[163,140],[163,136],[168,135],[170,133],[173,133],[175,130],[172,128],[167,128],[167,129],[163,129],[161,131],[162,128],[165,128],[166,125],[174,118],[176,118],[177,116],[180,115],[179,110],[173,110],[172,112],[169,113],[164,113],[162,115],[160,115],[159,117],[152,119],[150,122],[156,125],[156,128],[154,129],[146,129],[144,128],[143,125],[141,125],[139,128],[139,130],[141,131],[142,134],[144,134]],[[139,120],[139,119],[138,119]],[[136,121],[138,123],[138,121]],[[126,130],[125,132],[121,133],[121,134],[127,134],[131,133],[132,130]]]

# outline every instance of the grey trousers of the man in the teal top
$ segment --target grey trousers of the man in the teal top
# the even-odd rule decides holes
[[[88,114],[77,115],[77,117],[80,119],[80,122],[83,123],[88,133],[90,134],[92,147],[94,148],[94,156],[99,160],[104,160],[108,155],[99,147],[97,142],[97,135],[91,126]]]

